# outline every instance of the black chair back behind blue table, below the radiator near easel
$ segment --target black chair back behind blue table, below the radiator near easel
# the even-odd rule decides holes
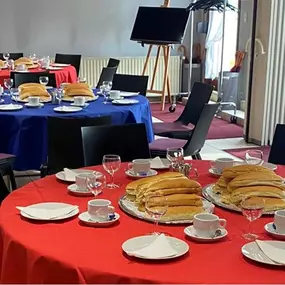
[[[127,92],[139,92],[146,95],[148,84],[148,76],[115,74],[113,78],[113,90],[121,90]]]

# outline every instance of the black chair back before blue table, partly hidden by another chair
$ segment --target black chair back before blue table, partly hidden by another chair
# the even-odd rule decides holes
[[[110,125],[111,116],[96,118],[48,117],[48,158],[41,176],[54,174],[63,168],[84,166],[81,127]]]

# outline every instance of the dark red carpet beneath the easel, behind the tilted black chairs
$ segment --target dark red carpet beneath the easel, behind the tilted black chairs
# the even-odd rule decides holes
[[[152,116],[164,121],[174,122],[182,113],[184,106],[177,105],[176,111],[170,113],[168,111],[169,105],[165,106],[165,110],[160,110],[160,104],[150,104],[152,110]],[[225,139],[225,138],[239,138],[243,136],[243,128],[236,124],[231,124],[224,120],[214,118],[211,124],[210,130],[207,135],[207,139]]]

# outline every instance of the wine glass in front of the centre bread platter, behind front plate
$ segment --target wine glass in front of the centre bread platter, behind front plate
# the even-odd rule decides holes
[[[162,195],[151,195],[145,201],[145,209],[149,216],[154,220],[154,232],[152,235],[160,235],[158,232],[158,223],[162,216],[164,216],[168,209],[167,199]]]

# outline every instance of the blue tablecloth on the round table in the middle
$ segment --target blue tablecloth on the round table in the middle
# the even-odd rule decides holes
[[[5,96],[5,103],[10,98]],[[148,141],[154,138],[152,129],[151,110],[148,100],[137,96],[139,100],[135,105],[103,104],[99,97],[95,102],[78,113],[56,113],[51,103],[43,108],[26,108],[14,112],[0,112],[0,153],[16,155],[14,169],[38,170],[47,157],[47,117],[82,117],[92,118],[98,116],[112,116],[112,124],[144,123],[147,130]],[[63,103],[63,105],[70,105]],[[64,132],[64,130],[63,130]]]

